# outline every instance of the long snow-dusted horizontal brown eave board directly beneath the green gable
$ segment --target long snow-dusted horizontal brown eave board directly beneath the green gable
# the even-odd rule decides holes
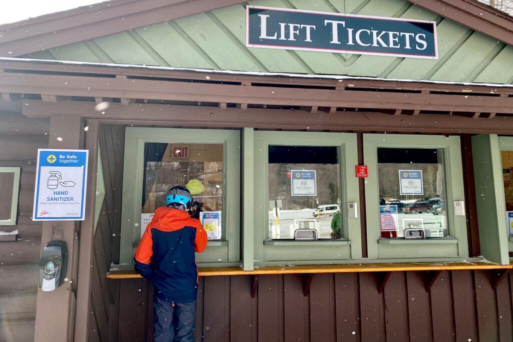
[[[340,75],[315,75],[306,77],[302,74],[232,72],[222,70],[202,70],[184,68],[165,68],[151,66],[107,65],[97,63],[70,63],[62,61],[43,61],[24,58],[0,57],[0,71],[38,73],[54,75],[111,75],[151,79],[190,79],[194,81],[230,82],[243,85],[252,83],[283,86],[332,87],[338,89],[388,89],[427,92],[451,92],[466,94],[504,94],[513,95],[513,85],[458,83],[438,81],[410,81],[382,79],[372,77],[350,77]]]

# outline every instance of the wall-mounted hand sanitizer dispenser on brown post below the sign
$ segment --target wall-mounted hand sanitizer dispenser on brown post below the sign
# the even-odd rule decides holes
[[[39,287],[53,291],[64,283],[68,265],[68,247],[65,241],[52,240],[46,244],[39,263]]]

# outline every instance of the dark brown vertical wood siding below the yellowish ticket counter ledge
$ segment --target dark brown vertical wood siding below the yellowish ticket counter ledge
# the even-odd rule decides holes
[[[196,341],[508,341],[513,340],[508,275],[443,271],[430,292],[422,272],[392,272],[378,294],[374,273],[200,278]],[[152,293],[143,279],[121,284],[119,341],[152,341]]]

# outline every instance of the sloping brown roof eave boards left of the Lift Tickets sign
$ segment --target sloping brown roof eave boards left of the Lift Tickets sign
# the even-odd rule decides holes
[[[0,26],[0,55],[21,56],[243,3],[115,0]]]

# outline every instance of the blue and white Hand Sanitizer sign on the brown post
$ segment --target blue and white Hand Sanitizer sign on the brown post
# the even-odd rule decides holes
[[[83,220],[88,150],[37,150],[34,221]]]

